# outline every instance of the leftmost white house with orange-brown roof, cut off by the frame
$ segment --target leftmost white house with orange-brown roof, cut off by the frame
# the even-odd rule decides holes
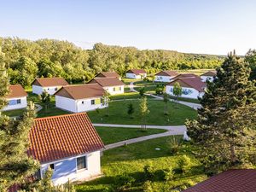
[[[27,93],[20,84],[9,85],[9,95],[6,96],[8,105],[3,108],[3,111],[26,108],[26,97]]]

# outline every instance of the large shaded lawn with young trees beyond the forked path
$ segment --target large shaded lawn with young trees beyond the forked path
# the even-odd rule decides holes
[[[129,103],[132,103],[135,109],[133,118],[127,114]],[[100,109],[98,112],[90,111],[88,114],[93,123],[140,125],[139,104],[139,100],[110,102],[108,108]],[[148,100],[148,109],[150,113],[147,125],[183,125],[185,119],[195,119],[197,115],[194,109],[174,102],[168,102],[169,114],[165,115],[165,103],[158,100]]]

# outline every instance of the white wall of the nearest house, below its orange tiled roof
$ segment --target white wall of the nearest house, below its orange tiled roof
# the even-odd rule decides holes
[[[41,165],[41,176],[44,176],[44,172],[48,169],[49,165],[55,164],[55,171],[53,172],[52,181],[55,185],[60,185],[79,180],[88,180],[91,177],[96,177],[101,174],[101,154],[100,151],[85,154],[87,168],[77,170],[77,158],[84,156],[79,155],[66,160],[59,160],[50,162],[48,164]]]

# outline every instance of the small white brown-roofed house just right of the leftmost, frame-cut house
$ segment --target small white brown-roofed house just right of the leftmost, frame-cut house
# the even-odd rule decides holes
[[[68,83],[63,78],[38,78],[32,83],[32,93],[41,95],[45,90],[49,95],[54,95],[57,90],[66,85]]]

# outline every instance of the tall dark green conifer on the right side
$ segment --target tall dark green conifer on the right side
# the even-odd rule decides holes
[[[207,170],[218,172],[251,161],[256,90],[249,75],[248,63],[230,53],[217,69],[217,78],[207,82],[197,119],[186,122]]]

